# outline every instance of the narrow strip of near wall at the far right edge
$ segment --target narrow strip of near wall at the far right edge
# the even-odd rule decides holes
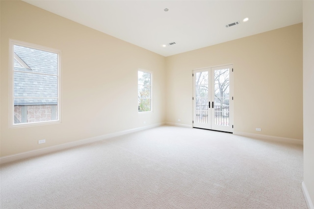
[[[304,184],[314,204],[314,1],[303,1]],[[312,205],[313,207],[313,205]]]

